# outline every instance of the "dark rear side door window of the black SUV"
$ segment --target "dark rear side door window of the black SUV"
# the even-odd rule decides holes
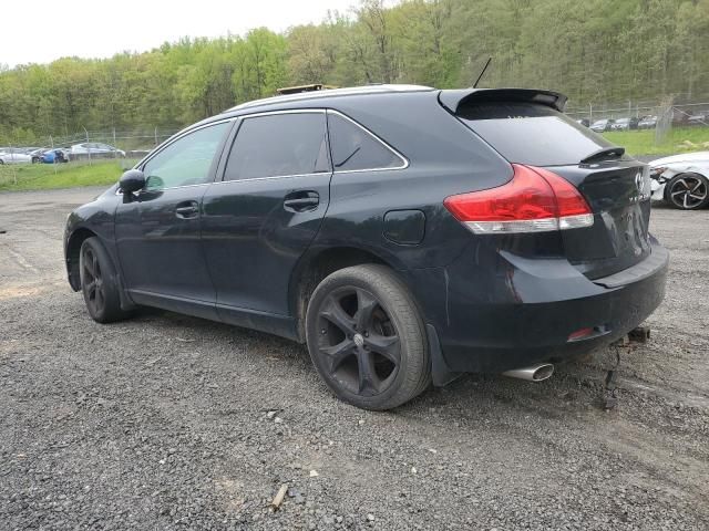
[[[224,180],[330,171],[325,113],[245,118],[229,153]]]

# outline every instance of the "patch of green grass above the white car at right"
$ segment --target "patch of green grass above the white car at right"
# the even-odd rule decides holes
[[[667,155],[709,150],[709,127],[672,127],[667,139],[655,144],[655,129],[612,131],[603,133],[608,140],[625,147],[630,155]]]

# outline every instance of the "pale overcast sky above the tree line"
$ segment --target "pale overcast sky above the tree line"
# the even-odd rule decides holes
[[[6,3],[7,2],[7,3]],[[0,64],[49,63],[63,56],[144,52],[182,37],[243,34],[267,27],[319,23],[328,9],[358,0],[2,0]]]

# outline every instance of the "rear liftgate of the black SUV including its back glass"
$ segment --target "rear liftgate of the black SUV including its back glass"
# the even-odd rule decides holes
[[[566,258],[588,278],[649,254],[647,165],[543,103],[471,98],[455,114],[511,163],[547,168],[583,194],[594,225],[564,230],[562,239]]]

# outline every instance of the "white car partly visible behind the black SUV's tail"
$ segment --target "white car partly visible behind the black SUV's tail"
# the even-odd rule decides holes
[[[648,164],[653,199],[682,210],[709,204],[709,152],[674,155]]]

